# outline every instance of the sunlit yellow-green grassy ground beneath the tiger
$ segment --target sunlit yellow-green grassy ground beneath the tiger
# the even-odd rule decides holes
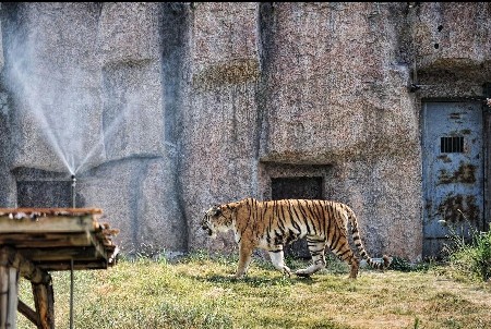
[[[249,277],[235,280],[236,260],[201,253],[75,271],[74,328],[491,328],[491,283],[455,279],[442,267],[361,269],[349,280],[333,261],[300,279],[254,259]],[[56,325],[69,328],[70,276],[52,277]],[[21,298],[29,304],[27,283],[21,280]],[[19,314],[19,328],[35,327]]]

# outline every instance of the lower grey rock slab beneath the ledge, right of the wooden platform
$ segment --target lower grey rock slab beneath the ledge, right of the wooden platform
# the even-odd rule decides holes
[[[176,169],[170,163],[160,157],[130,158],[79,176],[83,204],[101,208],[101,221],[120,229],[122,252],[148,255],[187,248],[187,226],[171,179]]]

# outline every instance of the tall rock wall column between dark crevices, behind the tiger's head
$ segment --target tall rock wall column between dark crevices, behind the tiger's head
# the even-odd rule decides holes
[[[192,76],[182,113],[182,194],[190,247],[209,241],[204,210],[256,194],[260,45],[256,3],[199,3],[193,11]],[[228,243],[230,244],[230,243]]]

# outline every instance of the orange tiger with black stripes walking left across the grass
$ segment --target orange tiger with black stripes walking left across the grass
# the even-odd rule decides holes
[[[370,267],[385,270],[391,258],[383,255],[383,263],[374,261],[363,247],[358,221],[351,208],[343,203],[323,199],[280,199],[260,202],[244,198],[215,205],[205,211],[201,227],[212,239],[218,232],[233,230],[239,246],[236,278],[247,276],[252,253],[256,248],[267,251],[271,263],[284,276],[291,276],[285,265],[284,246],[307,237],[312,264],[295,271],[298,277],[310,277],[326,265],[324,251],[327,246],[339,259],[350,266],[349,278],[358,276],[360,260],[348,241],[351,227],[352,242],[360,256]]]

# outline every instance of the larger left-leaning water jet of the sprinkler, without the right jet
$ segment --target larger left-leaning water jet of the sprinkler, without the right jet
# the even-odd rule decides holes
[[[17,100],[20,120],[28,123],[32,134],[43,135],[63,167],[74,174],[77,155],[84,148],[83,134],[91,133],[80,113],[94,107],[88,97],[76,93],[76,85],[84,77],[75,70],[63,76],[40,77],[26,48],[21,51],[13,47],[9,58],[10,87]]]

